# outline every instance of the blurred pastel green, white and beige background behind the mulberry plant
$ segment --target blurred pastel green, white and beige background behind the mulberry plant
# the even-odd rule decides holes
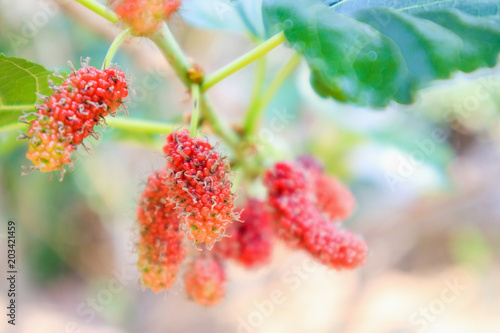
[[[169,24],[206,72],[252,48],[232,2],[184,2]],[[46,68],[67,71],[81,57],[100,66],[119,31],[73,1],[0,0],[0,52]],[[291,54],[268,55],[269,78]],[[128,41],[115,62],[133,76],[131,116],[183,121],[189,96],[150,41]],[[254,72],[210,90],[227,121],[241,123]],[[369,110],[317,97],[301,64],[266,110],[268,120],[290,115],[285,126],[269,134],[264,124],[261,135],[276,148],[270,161],[310,153],[349,185],[357,209],[345,224],[366,239],[367,264],[331,271],[278,244],[266,268],[229,264],[214,308],[189,301],[181,281],[162,294],[138,287],[136,200],[164,165],[164,137],[104,129],[58,182],[21,177],[25,142],[2,132],[0,219],[17,222],[19,294],[16,327],[4,318],[0,332],[500,332],[499,107],[499,68]]]

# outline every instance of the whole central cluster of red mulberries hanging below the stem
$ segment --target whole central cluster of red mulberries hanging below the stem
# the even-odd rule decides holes
[[[314,159],[275,164],[264,178],[268,200],[250,198],[233,213],[228,166],[208,142],[181,130],[168,136],[164,152],[167,167],[149,177],[137,211],[144,286],[159,292],[174,284],[186,253],[182,230],[189,240],[215,245],[191,259],[184,275],[188,297],[205,306],[225,293],[225,261],[261,267],[275,236],[328,267],[364,264],[365,242],[334,223],[351,214],[354,198]]]

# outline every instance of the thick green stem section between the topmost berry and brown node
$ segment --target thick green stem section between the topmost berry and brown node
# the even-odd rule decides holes
[[[168,26],[163,24],[162,29],[151,36],[151,39],[161,50],[182,83],[184,83],[186,87],[190,87],[192,82],[189,79],[188,70],[192,68],[193,65],[184,55],[184,52],[175,40]]]

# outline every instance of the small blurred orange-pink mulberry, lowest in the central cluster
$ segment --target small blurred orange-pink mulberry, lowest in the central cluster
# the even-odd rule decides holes
[[[216,305],[226,292],[224,266],[217,257],[212,255],[195,258],[184,276],[184,281],[188,297],[200,305]]]

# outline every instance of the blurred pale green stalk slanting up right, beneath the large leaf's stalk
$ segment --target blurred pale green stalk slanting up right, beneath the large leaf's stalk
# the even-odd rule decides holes
[[[264,95],[255,103],[255,107],[249,109],[243,125],[247,136],[254,134],[266,107],[269,105],[274,95],[278,92],[283,82],[285,82],[285,79],[293,72],[295,67],[297,67],[299,62],[300,55],[295,53],[276,75],[274,80],[271,81],[269,88],[266,90]]]

